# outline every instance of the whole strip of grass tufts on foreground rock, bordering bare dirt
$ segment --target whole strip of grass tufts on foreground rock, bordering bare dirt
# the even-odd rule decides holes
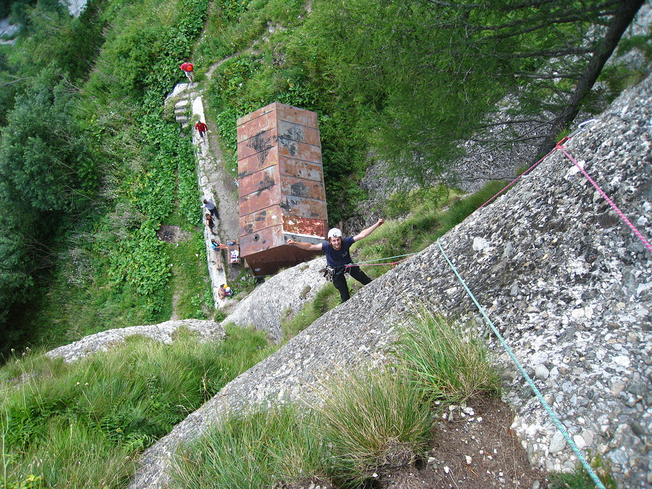
[[[171,489],[273,488],[320,478],[359,488],[374,472],[423,457],[441,410],[468,392],[495,394],[498,377],[485,346],[470,332],[444,319],[416,322],[419,335],[403,334],[396,344],[396,365],[331,372],[321,384],[321,399],[311,396],[304,404],[259,406],[225,416],[176,453]],[[442,330],[456,331],[458,341],[421,338],[439,338]],[[420,385],[423,357],[447,358],[447,363],[430,365],[426,376],[447,385],[460,377],[450,365],[485,375],[465,376],[470,390],[463,395],[447,391],[442,396]]]

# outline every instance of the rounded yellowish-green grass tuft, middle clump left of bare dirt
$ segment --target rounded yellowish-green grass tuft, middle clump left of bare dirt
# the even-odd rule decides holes
[[[333,447],[328,472],[349,483],[414,462],[433,430],[430,406],[407,372],[389,368],[338,372],[317,411],[319,431]]]

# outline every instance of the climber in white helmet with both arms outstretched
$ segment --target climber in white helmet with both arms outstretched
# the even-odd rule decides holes
[[[354,279],[360,282],[363,285],[371,282],[371,279],[360,270],[360,267],[357,265],[347,266],[353,263],[349,249],[354,242],[363,240],[368,235],[376,231],[379,226],[384,223],[383,219],[378,219],[375,224],[369,226],[365,230],[356,234],[354,237],[342,238],[342,231],[338,228],[333,228],[331,231],[328,231],[328,242],[321,243],[320,245],[312,243],[297,242],[294,240],[287,240],[288,245],[296,246],[301,249],[307,249],[309,251],[324,251],[326,255],[326,270],[329,275],[329,279],[332,277],[333,285],[335,289],[340,291],[340,298],[342,302],[349,300],[349,286],[347,285],[347,278],[345,277],[345,272],[351,275]]]

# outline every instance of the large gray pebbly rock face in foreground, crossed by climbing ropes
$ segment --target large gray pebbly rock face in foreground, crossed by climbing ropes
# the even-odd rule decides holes
[[[649,77],[565,143],[648,240],[651,124]],[[652,253],[562,152],[522,180],[447,233],[442,249],[535,377],[573,443],[611,459],[621,486],[652,487]],[[486,246],[474,249],[476,238]],[[228,409],[318,397],[320,380],[329,374],[384,362],[396,326],[419,305],[484,323],[440,247],[431,245],[231,381],[145,452],[129,487],[164,488],[178,445]],[[512,428],[530,461],[548,470],[572,469],[576,455],[495,335],[490,347],[507,367]]]

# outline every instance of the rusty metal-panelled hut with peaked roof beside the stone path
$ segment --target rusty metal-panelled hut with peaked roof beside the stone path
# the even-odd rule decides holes
[[[238,119],[240,251],[254,275],[271,275],[319,252],[285,245],[327,232],[317,114],[272,103]]]

